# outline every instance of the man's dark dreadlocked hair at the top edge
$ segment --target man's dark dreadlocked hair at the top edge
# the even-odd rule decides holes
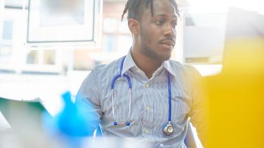
[[[155,0],[127,0],[121,17],[121,21],[123,20],[124,14],[126,14],[127,11],[129,11],[127,12],[127,19],[134,18],[137,21],[141,21],[143,11],[148,8],[148,5],[151,6],[151,16],[153,16],[153,1]],[[173,4],[176,13],[179,16],[179,8],[175,0],[168,1]]]

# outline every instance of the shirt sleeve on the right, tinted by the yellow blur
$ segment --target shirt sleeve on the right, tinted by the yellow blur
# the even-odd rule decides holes
[[[192,73],[192,108],[190,110],[190,121],[196,128],[202,145],[206,145],[206,117],[205,117],[205,100],[203,97],[203,88],[201,84],[201,74],[193,68]]]

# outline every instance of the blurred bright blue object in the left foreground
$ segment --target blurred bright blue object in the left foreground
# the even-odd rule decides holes
[[[93,114],[83,112],[82,104],[74,103],[69,91],[63,93],[62,99],[65,106],[60,113],[54,118],[43,116],[45,130],[50,137],[61,140],[69,148],[83,147],[83,140],[94,136],[100,119],[96,120]]]

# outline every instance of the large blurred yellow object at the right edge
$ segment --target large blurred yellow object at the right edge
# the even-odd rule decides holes
[[[228,40],[222,73],[203,84],[206,147],[264,147],[264,37]]]

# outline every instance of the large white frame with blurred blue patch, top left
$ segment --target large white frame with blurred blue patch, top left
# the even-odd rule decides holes
[[[100,46],[102,0],[29,1],[28,44]]]

